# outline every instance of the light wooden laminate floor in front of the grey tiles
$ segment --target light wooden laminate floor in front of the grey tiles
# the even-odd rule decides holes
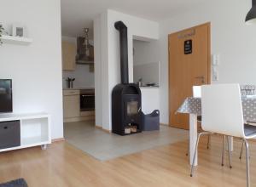
[[[241,141],[235,140],[233,168],[220,166],[221,139],[212,137],[211,149],[200,144],[199,167],[189,177],[187,141],[144,150],[111,161],[97,161],[73,146],[58,142],[0,154],[0,182],[25,178],[29,187],[87,186],[245,186],[245,159],[239,160]],[[251,184],[256,186],[256,143],[251,142]]]

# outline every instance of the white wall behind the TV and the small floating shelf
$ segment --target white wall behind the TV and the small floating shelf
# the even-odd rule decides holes
[[[0,78],[13,79],[15,113],[45,111],[52,116],[52,138],[63,137],[60,0],[4,1],[0,22],[26,26],[28,46],[0,46]]]

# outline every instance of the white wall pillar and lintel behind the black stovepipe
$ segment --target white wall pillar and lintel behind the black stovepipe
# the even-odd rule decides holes
[[[129,80],[133,82],[133,58],[132,58],[132,39],[133,37],[142,37],[145,39],[158,39],[159,26],[154,21],[144,20],[131,16],[128,14],[122,14],[113,10],[107,10],[99,15],[95,22],[94,31],[96,34],[94,37],[101,38],[101,42],[95,43],[95,46],[100,45],[102,48],[100,53],[101,57],[96,57],[97,62],[101,65],[96,65],[96,75],[98,80],[102,80],[102,85],[96,85],[96,90],[102,89],[102,95],[96,94],[97,97],[102,99],[102,104],[96,106],[96,108],[102,108],[102,116],[96,115],[96,122],[102,122],[104,129],[111,130],[111,93],[113,87],[120,83],[120,59],[119,59],[119,31],[114,28],[116,21],[122,20],[128,27],[128,61],[129,61]],[[100,29],[101,32],[96,31]],[[107,34],[107,35],[106,35]],[[96,83],[97,84],[97,83]],[[97,91],[96,91],[97,92]],[[97,113],[97,111],[96,111]],[[97,118],[100,117],[100,120]]]

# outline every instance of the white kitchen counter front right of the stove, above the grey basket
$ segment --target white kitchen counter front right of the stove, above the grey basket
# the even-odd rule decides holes
[[[160,110],[159,88],[140,87],[142,92],[142,110],[149,114],[154,110]]]

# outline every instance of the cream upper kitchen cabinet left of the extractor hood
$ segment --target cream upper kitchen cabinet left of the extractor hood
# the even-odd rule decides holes
[[[62,69],[74,71],[76,68],[76,45],[73,42],[62,41]]]

